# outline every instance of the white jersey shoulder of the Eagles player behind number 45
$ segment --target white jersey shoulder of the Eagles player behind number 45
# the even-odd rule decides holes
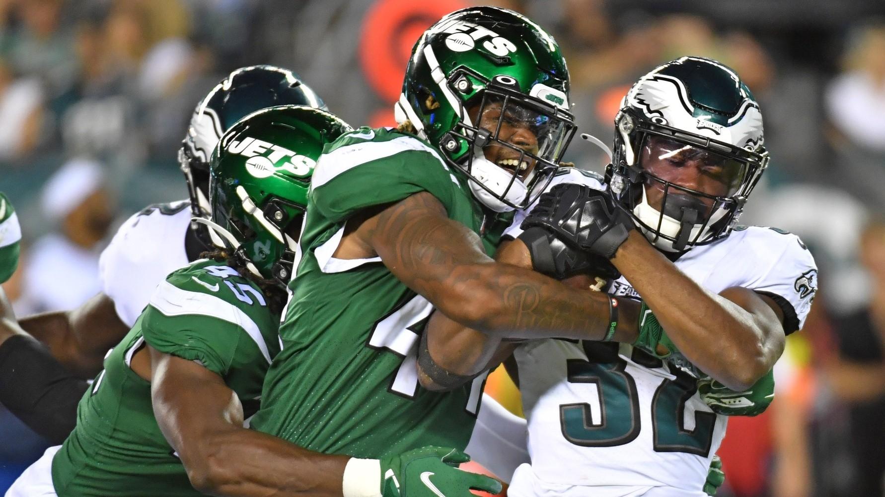
[[[102,252],[102,292],[125,325],[135,325],[154,288],[170,272],[189,264],[185,239],[190,218],[186,200],[150,205],[128,218]]]

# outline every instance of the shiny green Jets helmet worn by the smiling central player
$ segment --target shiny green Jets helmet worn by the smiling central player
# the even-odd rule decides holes
[[[411,122],[466,174],[486,207],[526,208],[574,134],[568,85],[550,34],[514,11],[471,7],[440,19],[415,44],[396,120]],[[512,126],[534,137],[514,140]]]

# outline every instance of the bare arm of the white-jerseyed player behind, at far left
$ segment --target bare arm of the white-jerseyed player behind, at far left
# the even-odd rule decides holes
[[[101,371],[105,353],[129,331],[105,294],[96,294],[78,309],[25,317],[19,324],[81,378]]]

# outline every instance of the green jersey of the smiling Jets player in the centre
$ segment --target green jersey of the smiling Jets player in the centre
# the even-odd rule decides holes
[[[332,256],[347,219],[427,191],[491,253],[510,215],[487,218],[460,175],[427,142],[360,128],[327,145],[312,177],[280,328],[252,428],[327,454],[380,457],[426,445],[464,448],[484,375],[449,393],[422,389],[419,333],[433,310],[380,257]]]

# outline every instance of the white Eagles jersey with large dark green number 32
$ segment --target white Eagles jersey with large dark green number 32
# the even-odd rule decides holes
[[[574,172],[555,179],[564,181],[603,188]],[[508,234],[521,233],[522,218]],[[771,228],[737,228],[675,264],[715,293],[746,287],[773,296],[788,332],[804,323],[817,287],[802,241]],[[624,278],[608,291],[638,298]],[[704,495],[727,417],[704,404],[688,372],[616,343],[537,340],[515,356],[532,463],[517,470],[510,495]]]

